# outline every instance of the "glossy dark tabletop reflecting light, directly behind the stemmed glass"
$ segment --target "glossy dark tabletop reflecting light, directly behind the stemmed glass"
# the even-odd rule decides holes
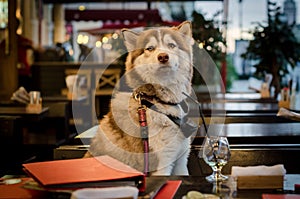
[[[230,123],[208,125],[210,134],[225,135],[231,144],[299,144],[300,123]],[[201,125],[196,138],[206,135]]]

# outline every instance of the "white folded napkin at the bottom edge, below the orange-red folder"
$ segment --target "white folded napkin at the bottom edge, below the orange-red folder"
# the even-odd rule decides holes
[[[71,199],[113,199],[132,198],[137,199],[139,190],[136,187],[107,187],[107,188],[83,188],[74,191]]]

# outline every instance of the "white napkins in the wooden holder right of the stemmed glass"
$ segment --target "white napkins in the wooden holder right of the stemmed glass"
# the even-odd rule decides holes
[[[232,176],[281,176],[285,174],[286,170],[282,164],[274,166],[232,166],[231,168]]]

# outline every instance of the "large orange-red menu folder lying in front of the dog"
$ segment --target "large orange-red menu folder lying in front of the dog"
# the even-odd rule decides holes
[[[54,160],[23,164],[25,172],[44,188],[78,189],[85,187],[136,186],[145,189],[145,176],[110,157]]]

